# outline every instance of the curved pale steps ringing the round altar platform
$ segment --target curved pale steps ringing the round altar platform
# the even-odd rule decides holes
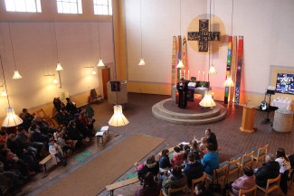
[[[166,120],[170,123],[180,125],[204,125],[221,121],[226,116],[226,109],[218,103],[216,103],[216,107],[214,107],[213,110],[208,112],[200,114],[184,114],[167,110],[164,107],[164,103],[166,101],[170,101],[170,98],[160,101],[154,105],[152,107],[152,114],[155,117]]]

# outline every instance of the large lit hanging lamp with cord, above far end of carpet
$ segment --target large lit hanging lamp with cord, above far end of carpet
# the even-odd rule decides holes
[[[113,12],[113,6],[112,6],[112,13]],[[113,39],[113,48],[115,49],[115,40],[114,40],[114,23],[113,23],[113,14],[112,14],[112,39]],[[114,79],[117,80],[117,63],[116,63],[116,55],[115,50],[114,52]],[[126,126],[128,125],[128,119],[125,117],[122,113],[122,107],[121,105],[118,105],[118,91],[117,98],[116,98],[116,105],[113,107],[113,115],[109,120],[109,126]]]

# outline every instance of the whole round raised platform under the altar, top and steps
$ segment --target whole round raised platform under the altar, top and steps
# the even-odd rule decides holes
[[[180,125],[204,125],[218,122],[224,119],[226,109],[216,103],[213,108],[200,107],[200,99],[188,102],[185,109],[177,107],[172,98],[162,100],[152,107],[153,116]]]

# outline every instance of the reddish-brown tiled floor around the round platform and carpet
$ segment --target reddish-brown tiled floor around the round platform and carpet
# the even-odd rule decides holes
[[[280,146],[284,147],[288,154],[294,153],[294,145],[292,145],[294,139],[293,131],[288,134],[280,134],[272,130],[269,124],[262,125],[261,121],[266,117],[265,113],[262,113],[260,111],[256,112],[255,127],[257,128],[257,131],[253,134],[242,133],[239,129],[242,123],[242,107],[226,107],[227,117],[223,121],[218,123],[204,126],[181,126],[170,124],[168,122],[159,120],[156,117],[153,117],[151,107],[158,101],[165,98],[169,97],[160,95],[129,93],[128,104],[123,108],[123,113],[128,118],[129,124],[128,126],[111,127],[111,131],[119,133],[119,135],[123,135],[123,137],[139,133],[143,135],[151,135],[166,139],[166,142],[163,145],[159,145],[156,150],[152,152],[152,154],[158,153],[166,145],[174,146],[177,145],[179,142],[190,141],[194,138],[194,136],[196,136],[197,138],[203,137],[204,130],[206,128],[211,128],[213,132],[217,135],[218,143],[222,148],[220,154],[223,154],[223,160],[229,159],[229,157],[235,154],[242,154],[252,147],[261,147],[267,144],[270,145],[270,153],[274,153],[275,150]],[[107,101],[104,101],[104,103],[93,104],[91,106],[95,110],[95,118],[97,119],[97,124],[100,126],[107,125],[109,118],[113,114],[112,106],[110,106]],[[116,145],[119,140],[120,139],[118,139],[116,142],[111,142],[111,140],[109,140],[107,149],[111,148],[113,145]],[[96,144],[92,144],[90,146],[90,148],[95,149],[91,153],[94,154],[95,152],[98,152]],[[90,150],[87,149],[87,151]],[[101,152],[102,151],[103,150],[101,150]],[[131,166],[132,165],[130,165],[130,167]],[[57,170],[58,172],[55,172]],[[64,175],[62,174],[62,171],[65,170],[66,169],[62,166],[59,166],[55,169],[52,168],[50,170],[51,172],[48,172],[48,175],[52,175],[51,179],[54,179],[52,173],[61,173],[59,176],[62,177]],[[128,173],[135,173],[135,171],[132,168],[128,171]],[[33,183],[40,185],[49,184],[49,182],[43,182],[42,174],[38,174],[37,176],[38,178],[35,179]],[[54,176],[56,176],[56,174]],[[122,178],[123,177],[124,176],[122,176]],[[47,177],[47,179],[49,178]],[[36,188],[37,186],[33,185],[33,187]],[[134,190],[138,189],[138,187],[138,184],[135,184],[133,186],[120,189],[116,191],[115,195],[117,195],[118,193],[123,193],[124,196],[134,195]],[[32,191],[32,187],[29,190]],[[27,193],[28,191],[25,192]],[[107,191],[102,191],[100,193],[100,195],[107,194]],[[25,193],[22,195],[25,195]],[[33,195],[33,193],[30,195]],[[290,191],[289,195],[293,196],[293,191]]]

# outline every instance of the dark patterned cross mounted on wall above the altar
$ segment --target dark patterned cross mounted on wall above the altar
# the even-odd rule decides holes
[[[199,20],[199,32],[188,32],[188,41],[199,41],[198,51],[208,51],[208,41],[220,41],[220,32],[208,31],[208,19]]]

